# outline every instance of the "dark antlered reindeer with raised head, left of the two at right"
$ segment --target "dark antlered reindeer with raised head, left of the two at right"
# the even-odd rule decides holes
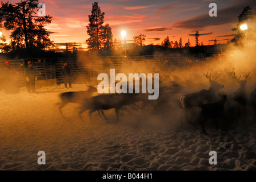
[[[199,107],[203,104],[218,101],[217,92],[224,88],[224,85],[218,84],[216,81],[218,76],[214,80],[211,80],[211,75],[208,75],[208,73],[206,73],[206,75],[203,74],[203,76],[205,76],[210,81],[209,89],[202,89],[198,92],[188,93],[179,98],[189,122],[191,121],[188,115],[193,114],[193,111],[197,111],[197,109],[199,109]]]

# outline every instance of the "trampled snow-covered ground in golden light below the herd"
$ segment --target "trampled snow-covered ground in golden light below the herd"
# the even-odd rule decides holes
[[[78,104],[63,107],[59,94],[86,90],[85,84],[63,85],[17,94],[0,91],[0,170],[256,170],[256,127],[248,117],[228,131],[180,125],[180,110],[159,114],[153,108],[127,109],[116,122],[95,112],[78,117]],[[46,164],[39,165],[38,151]],[[209,164],[209,152],[217,164]]]

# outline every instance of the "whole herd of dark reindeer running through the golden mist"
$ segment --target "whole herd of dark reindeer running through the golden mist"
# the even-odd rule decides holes
[[[89,86],[86,91],[61,93],[59,112],[65,118],[62,108],[73,102],[80,104],[78,115],[81,121],[83,121],[82,114],[87,110],[89,110],[91,122],[91,115],[95,111],[107,119],[104,110],[110,109],[115,110],[117,121],[119,121],[119,114],[127,107],[145,109],[150,105],[154,110],[162,111],[172,109],[171,106],[176,104],[182,110],[182,122],[186,120],[189,123],[197,123],[201,125],[203,133],[208,135],[205,130],[207,121],[213,121],[216,127],[218,127],[218,123],[230,122],[232,125],[245,115],[248,106],[256,110],[256,89],[251,91],[249,98],[246,94],[246,81],[249,74],[250,72],[244,76],[244,80],[240,80],[241,76],[237,77],[235,72],[232,73],[232,77],[239,86],[231,93],[220,92],[225,86],[216,81],[218,77],[212,80],[208,73],[203,74],[210,82],[208,89],[201,89],[182,96],[180,96],[180,91],[183,86],[175,82],[168,86],[160,85],[158,100],[148,100],[148,94],[145,93],[98,94],[96,88]]]

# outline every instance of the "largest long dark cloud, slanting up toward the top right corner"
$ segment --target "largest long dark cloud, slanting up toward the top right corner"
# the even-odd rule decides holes
[[[254,6],[256,4],[256,1],[251,3],[252,4],[250,4],[250,6]],[[241,5],[233,5],[224,9],[218,9],[217,17],[210,17],[207,12],[203,15],[199,15],[181,22],[177,22],[174,24],[174,27],[195,29],[237,22],[238,15],[242,12],[243,7],[245,6],[247,6],[247,4],[245,5],[243,3]]]

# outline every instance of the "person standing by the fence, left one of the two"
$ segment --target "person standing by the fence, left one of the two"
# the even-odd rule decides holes
[[[27,62],[27,65],[29,65],[29,67],[25,70],[27,80],[27,92],[35,92],[35,81],[37,81],[37,72],[33,68],[31,61]]]

